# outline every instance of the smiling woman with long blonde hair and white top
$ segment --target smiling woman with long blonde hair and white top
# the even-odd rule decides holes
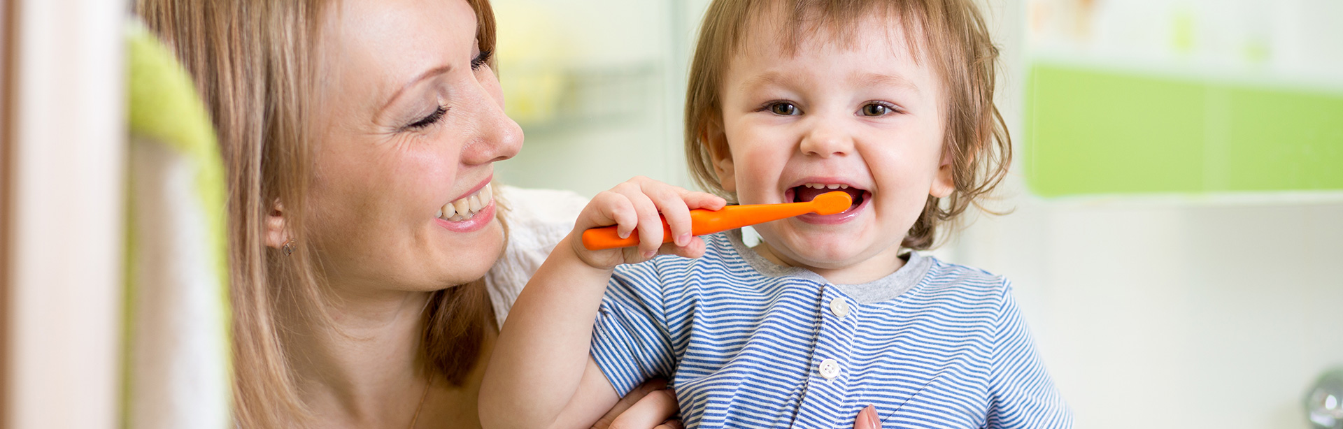
[[[478,426],[498,324],[583,204],[508,190],[509,212],[496,198],[492,165],[522,133],[492,70],[488,0],[137,9],[219,131],[238,425]],[[649,385],[603,422],[674,412]]]

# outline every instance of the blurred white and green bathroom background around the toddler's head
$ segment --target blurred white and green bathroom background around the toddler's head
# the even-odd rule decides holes
[[[693,186],[706,4],[496,0],[526,131],[500,177]],[[1343,1],[982,5],[1017,154],[990,205],[1014,212],[935,253],[1014,282],[1078,428],[1309,428],[1308,387],[1343,365]]]

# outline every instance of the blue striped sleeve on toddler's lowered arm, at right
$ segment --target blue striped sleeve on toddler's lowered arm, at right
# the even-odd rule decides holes
[[[1011,286],[995,320],[986,428],[1072,428],[1073,417],[1035,353]]]

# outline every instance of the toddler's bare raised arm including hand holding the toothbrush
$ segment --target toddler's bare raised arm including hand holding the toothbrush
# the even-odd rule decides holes
[[[657,253],[704,255],[690,236],[690,209],[720,209],[723,198],[637,177],[592,198],[573,231],[555,247],[518,295],[500,331],[481,385],[485,428],[588,428],[618,400],[588,355],[592,323],[611,271]],[[662,244],[666,217],[673,243]],[[588,228],[618,225],[639,235],[639,247],[583,248]]]

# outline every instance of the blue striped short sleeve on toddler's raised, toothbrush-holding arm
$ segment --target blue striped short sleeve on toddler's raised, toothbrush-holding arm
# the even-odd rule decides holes
[[[655,265],[616,267],[592,326],[592,361],[622,397],[649,378],[670,378],[676,366]]]

